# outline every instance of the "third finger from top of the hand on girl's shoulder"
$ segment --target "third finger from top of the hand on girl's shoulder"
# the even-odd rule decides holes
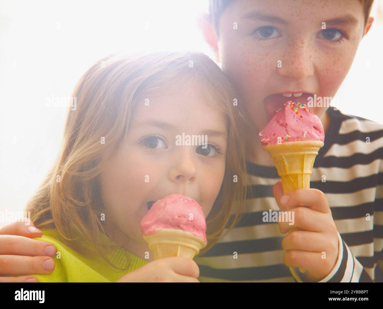
[[[55,266],[54,260],[51,257],[0,255],[0,273],[2,275],[46,274],[51,273]]]

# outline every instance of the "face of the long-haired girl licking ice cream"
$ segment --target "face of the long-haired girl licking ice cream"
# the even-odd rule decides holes
[[[101,194],[109,214],[118,222],[119,230],[139,246],[147,246],[140,228],[148,211],[147,202],[183,194],[196,200],[208,216],[221,188],[226,163],[226,119],[197,97],[195,89],[188,87],[178,90],[178,94],[164,93],[139,101],[128,137],[106,160],[101,173]],[[149,99],[149,106],[145,99]],[[223,136],[205,133],[208,130]],[[200,146],[176,145],[176,135],[182,133],[207,134],[207,141]]]

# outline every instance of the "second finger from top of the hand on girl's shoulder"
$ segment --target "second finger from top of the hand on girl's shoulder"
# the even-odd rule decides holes
[[[46,241],[23,236],[0,235],[0,255],[56,255],[56,247]]]

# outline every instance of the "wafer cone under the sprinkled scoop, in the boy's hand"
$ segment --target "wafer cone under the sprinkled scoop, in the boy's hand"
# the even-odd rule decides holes
[[[322,141],[291,141],[263,147],[282,180],[283,194],[310,187],[311,171]]]

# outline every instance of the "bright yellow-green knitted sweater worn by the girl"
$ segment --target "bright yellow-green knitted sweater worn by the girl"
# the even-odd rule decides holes
[[[123,275],[149,263],[127,250],[116,249],[108,255],[113,262],[123,266],[127,259],[130,261],[128,270],[121,272],[112,269],[101,257],[86,257],[67,247],[60,241],[61,235],[57,229],[43,230],[43,236],[34,239],[50,242],[56,247],[56,252],[61,254],[60,259],[57,259],[57,255],[52,257],[56,267],[51,273],[31,274],[39,282],[115,282]]]

